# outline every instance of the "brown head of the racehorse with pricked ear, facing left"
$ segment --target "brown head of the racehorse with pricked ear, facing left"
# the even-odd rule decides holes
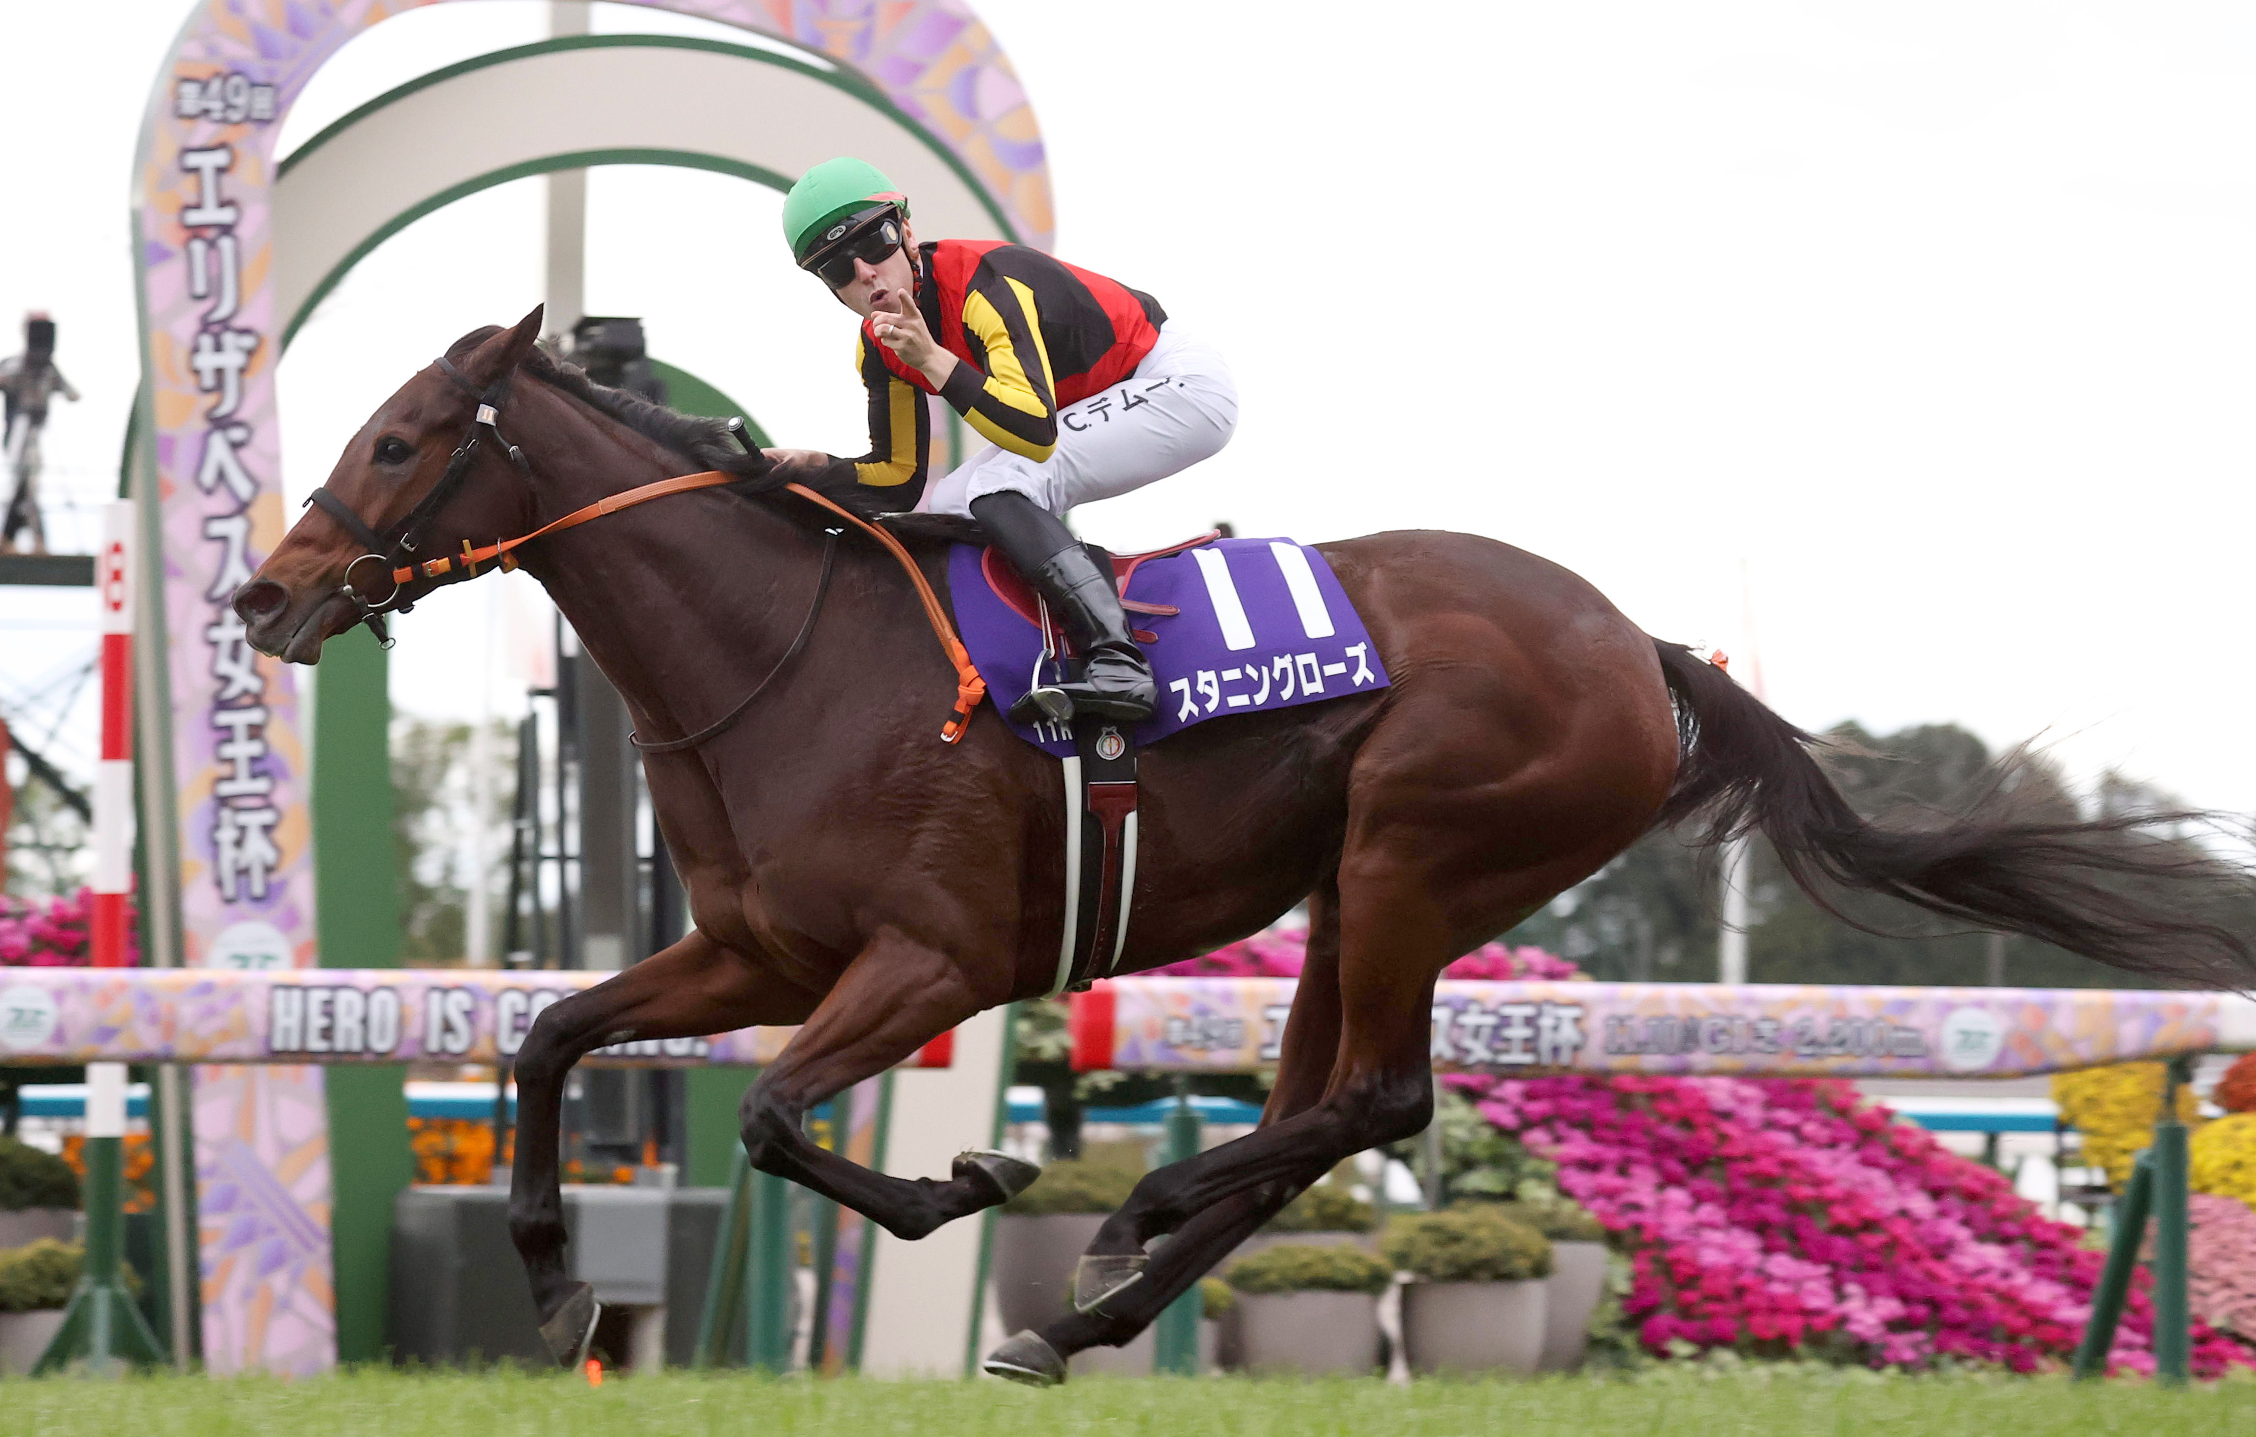
[[[514,532],[530,492],[494,422],[508,424],[508,381],[539,334],[539,307],[514,329],[476,329],[370,415],[316,494],[320,503],[235,591],[250,647],[314,663],[332,634],[433,587],[395,584],[395,566],[447,555],[472,535]],[[487,404],[499,415],[481,417]]]

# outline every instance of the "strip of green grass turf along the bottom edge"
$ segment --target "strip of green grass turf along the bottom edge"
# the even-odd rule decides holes
[[[1746,1369],[1527,1383],[1076,1378],[611,1378],[359,1369],[314,1381],[140,1376],[0,1383],[0,1428],[38,1437],[2195,1437],[2256,1432],[2256,1383],[1875,1376]]]

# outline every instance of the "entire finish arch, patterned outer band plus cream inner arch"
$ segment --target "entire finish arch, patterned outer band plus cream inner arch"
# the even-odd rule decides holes
[[[688,165],[783,187],[844,151],[896,174],[936,228],[1051,239],[1033,113],[963,0],[627,0],[785,41],[817,61],[672,38],[550,41],[404,86],[277,167],[275,135],[307,79],[372,25],[438,2],[205,0],[151,95],[133,194],[135,420],[149,442],[131,481],[149,555],[140,792],[158,966],[323,963],[314,765],[296,679],[250,652],[228,596],[289,526],[275,415],[282,345],[354,262],[420,214],[528,174]],[[589,95],[614,104],[589,106]],[[988,1060],[968,1065],[977,1049]],[[945,1101],[961,1114],[970,1069],[986,1069],[993,1087],[999,1017],[988,1015],[986,1033],[961,1033],[957,1053]],[[194,1072],[192,1121],[171,1105],[165,1126],[194,1132],[203,1360],[217,1374],[329,1367],[345,1277],[332,1266],[329,1214],[343,1193],[332,1184],[320,1069]],[[948,1123],[896,1130],[936,1130],[941,1146],[954,1137]],[[898,1157],[929,1166],[932,1155]],[[929,1171],[943,1171],[945,1153],[938,1160]],[[889,1263],[902,1275],[963,1266],[963,1238],[957,1252],[936,1241],[880,1250],[878,1311],[914,1306],[884,1302]],[[959,1369],[968,1338],[961,1324],[943,1326],[959,1351],[909,1365]]]

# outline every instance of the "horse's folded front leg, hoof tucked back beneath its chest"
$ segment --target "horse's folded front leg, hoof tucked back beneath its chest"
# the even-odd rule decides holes
[[[920,1238],[1024,1191],[1040,1169],[1002,1153],[968,1151],[948,1180],[889,1178],[823,1151],[801,1130],[808,1108],[905,1063],[1006,997],[975,993],[943,952],[896,929],[880,932],[744,1094],[751,1166],[844,1202],[898,1238]]]

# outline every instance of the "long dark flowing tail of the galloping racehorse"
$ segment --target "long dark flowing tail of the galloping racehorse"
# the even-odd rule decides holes
[[[1658,643],[1676,702],[1681,762],[1656,826],[1708,821],[1706,841],[1762,832],[1825,911],[1832,893],[1902,898],[1976,929],[2055,943],[2109,968],[2220,988],[2256,984],[2249,941],[2220,920],[2247,875],[2193,844],[2152,832],[2204,814],[2094,821],[2039,812],[2046,785],[2015,783],[2010,758],[1958,814],[1891,812],[1868,821],[1809,756],[1818,742],[1724,670]],[[1877,929],[1875,929],[1877,932]]]

